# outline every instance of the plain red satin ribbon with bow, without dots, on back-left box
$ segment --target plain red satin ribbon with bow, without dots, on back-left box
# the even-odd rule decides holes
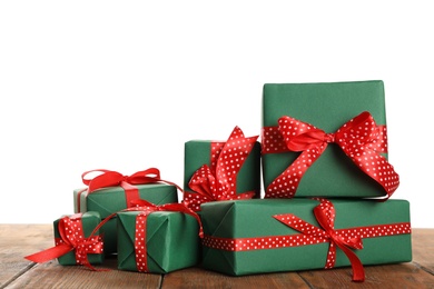
[[[102,173],[92,179],[86,179],[86,176],[91,172],[102,172]],[[157,168],[149,168],[147,170],[138,171],[131,176],[124,176],[117,171],[105,170],[105,169],[90,170],[83,172],[81,175],[81,179],[82,182],[86,186],[88,186],[88,188],[79,191],[77,195],[78,211],[81,211],[80,195],[86,190],[88,191],[88,193],[92,193],[98,189],[120,186],[125,190],[127,208],[132,207],[132,201],[140,199],[139,190],[134,185],[165,182],[175,186],[178,190],[183,191],[183,189],[178,185],[171,181],[162,180],[160,178],[160,171]]]

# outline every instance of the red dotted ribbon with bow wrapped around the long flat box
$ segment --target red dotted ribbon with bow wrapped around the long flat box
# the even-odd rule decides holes
[[[320,203],[315,207],[314,215],[320,228],[302,220],[293,213],[284,213],[273,217],[302,233],[254,238],[219,238],[205,236],[203,245],[219,250],[248,251],[328,242],[329,247],[325,269],[329,269],[335,266],[336,247],[338,247],[351,261],[353,268],[353,280],[363,281],[365,278],[363,265],[351,249],[362,249],[362,239],[364,238],[411,233],[410,222],[334,229],[335,208],[333,203],[325,199],[318,200]]]

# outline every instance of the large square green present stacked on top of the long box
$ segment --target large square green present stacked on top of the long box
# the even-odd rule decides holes
[[[383,81],[266,83],[265,198],[389,198]]]

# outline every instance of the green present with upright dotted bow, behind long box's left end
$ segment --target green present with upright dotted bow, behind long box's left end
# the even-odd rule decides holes
[[[184,202],[260,198],[260,143],[235,127],[227,141],[185,143]]]

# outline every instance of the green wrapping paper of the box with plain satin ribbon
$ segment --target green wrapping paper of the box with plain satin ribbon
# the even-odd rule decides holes
[[[135,185],[139,191],[140,199],[155,205],[178,202],[177,188],[166,183]],[[82,189],[73,191],[75,211],[98,211],[102,219],[114,212],[127,208],[126,191],[121,187],[109,187],[93,191],[92,193],[81,192]],[[80,193],[81,192],[81,193]],[[117,251],[116,217],[103,226],[105,252]]]

